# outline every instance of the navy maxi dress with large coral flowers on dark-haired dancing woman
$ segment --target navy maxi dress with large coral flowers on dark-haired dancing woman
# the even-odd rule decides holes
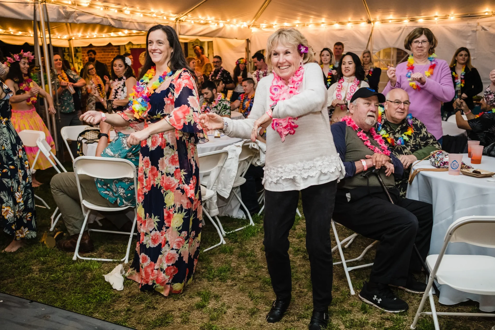
[[[177,70],[170,85],[151,94],[148,111],[131,124],[145,128],[166,120],[175,130],[141,142],[138,171],[138,243],[127,277],[141,291],[180,293],[193,279],[199,255],[201,196],[196,144],[207,141],[199,124],[199,99],[192,75]],[[167,81],[165,82],[167,83]],[[165,84],[164,83],[164,84]]]

